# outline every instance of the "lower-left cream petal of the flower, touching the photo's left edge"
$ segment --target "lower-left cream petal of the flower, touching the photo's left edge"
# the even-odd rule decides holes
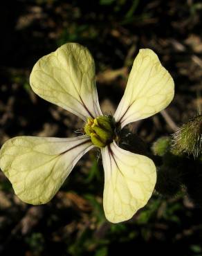
[[[47,203],[77,161],[93,147],[89,136],[15,137],[1,147],[0,167],[22,201]]]

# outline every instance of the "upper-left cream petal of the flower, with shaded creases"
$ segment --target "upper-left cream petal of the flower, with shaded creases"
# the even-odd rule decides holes
[[[95,85],[95,64],[88,49],[68,43],[37,61],[30,85],[44,100],[82,118],[102,115]]]

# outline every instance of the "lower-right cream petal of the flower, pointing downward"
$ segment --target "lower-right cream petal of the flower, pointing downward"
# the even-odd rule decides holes
[[[112,223],[127,221],[152,196],[156,167],[147,156],[121,149],[115,142],[101,149],[104,166],[104,213]]]

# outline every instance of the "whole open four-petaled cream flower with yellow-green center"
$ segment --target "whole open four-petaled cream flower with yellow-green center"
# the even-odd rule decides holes
[[[42,57],[30,74],[39,95],[84,120],[77,138],[20,136],[0,151],[0,167],[19,198],[34,205],[47,203],[77,161],[100,147],[104,166],[104,213],[113,223],[130,219],[149,200],[156,167],[147,156],[118,147],[117,132],[130,122],[158,113],[171,102],[174,82],[158,56],[141,49],[125,93],[112,116],[103,116],[95,86],[95,65],[89,51],[69,43]]]

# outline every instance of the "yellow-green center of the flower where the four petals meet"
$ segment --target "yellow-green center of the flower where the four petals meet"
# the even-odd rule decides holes
[[[91,137],[95,146],[105,147],[115,138],[115,125],[112,116],[98,116],[97,118],[88,118],[84,131]]]

